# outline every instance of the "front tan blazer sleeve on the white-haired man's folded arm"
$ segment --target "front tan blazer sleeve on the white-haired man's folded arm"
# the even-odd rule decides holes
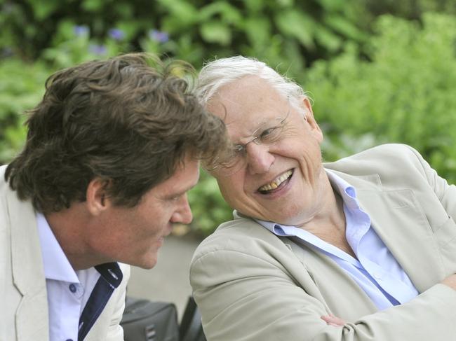
[[[455,340],[456,291],[442,284],[335,327],[321,319],[323,304],[267,255],[210,251],[194,258],[190,276],[208,341]]]

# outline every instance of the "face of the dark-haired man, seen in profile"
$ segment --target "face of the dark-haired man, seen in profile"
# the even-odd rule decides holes
[[[92,235],[93,251],[106,263],[119,261],[150,269],[173,223],[192,221],[187,191],[199,179],[199,162],[187,156],[169,179],[145,193],[135,207],[112,205]]]

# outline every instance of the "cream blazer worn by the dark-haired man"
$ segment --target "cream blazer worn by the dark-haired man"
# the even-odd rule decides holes
[[[10,190],[4,171],[0,167],[0,341],[46,341],[48,300],[35,211]],[[121,265],[121,270],[121,285],[85,341],[123,340],[119,322],[130,267]]]

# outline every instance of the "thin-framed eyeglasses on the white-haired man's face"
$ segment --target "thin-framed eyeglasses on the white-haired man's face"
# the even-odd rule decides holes
[[[277,117],[270,120],[268,123],[264,123],[253,132],[250,141],[246,144],[235,144],[232,146],[232,150],[229,151],[226,159],[220,162],[216,162],[213,169],[208,169],[210,172],[217,172],[223,176],[229,176],[236,172],[239,172],[244,166],[246,166],[246,150],[250,143],[256,145],[273,146],[283,137],[283,128],[286,127],[287,118],[290,114],[290,107],[288,106],[288,112],[286,116]]]

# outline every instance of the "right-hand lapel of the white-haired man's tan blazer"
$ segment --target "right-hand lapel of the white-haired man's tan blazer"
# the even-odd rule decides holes
[[[423,292],[444,277],[438,245],[424,212],[412,190],[383,190],[380,177],[349,176],[337,172],[354,188],[361,207],[372,221],[377,235]]]

